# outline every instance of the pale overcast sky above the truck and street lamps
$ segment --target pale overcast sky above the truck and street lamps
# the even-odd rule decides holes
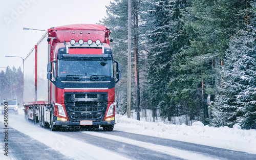
[[[47,30],[70,24],[96,24],[106,16],[110,0],[0,0],[0,67],[19,66]],[[6,70],[6,68],[0,68]]]

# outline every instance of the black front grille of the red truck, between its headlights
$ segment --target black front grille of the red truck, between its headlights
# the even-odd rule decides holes
[[[108,93],[65,93],[65,107],[70,121],[103,121]]]

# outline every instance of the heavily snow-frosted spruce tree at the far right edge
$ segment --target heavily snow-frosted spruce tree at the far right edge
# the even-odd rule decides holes
[[[214,107],[213,123],[217,126],[256,128],[256,12],[251,2],[245,2],[246,9],[241,10],[243,28],[231,38],[226,52],[223,86]]]

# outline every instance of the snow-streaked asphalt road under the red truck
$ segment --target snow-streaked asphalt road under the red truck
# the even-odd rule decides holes
[[[0,116],[1,148],[4,117]],[[0,159],[256,159],[255,154],[232,151],[141,134],[101,129],[67,128],[53,132],[26,122],[23,113],[9,115],[8,158]]]

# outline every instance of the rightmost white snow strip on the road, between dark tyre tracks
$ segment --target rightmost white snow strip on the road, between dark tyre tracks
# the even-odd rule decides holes
[[[185,158],[185,159],[195,159],[195,160],[198,160],[198,159],[205,159],[205,160],[206,159],[220,159],[217,157],[210,157],[210,156],[202,155],[202,154],[196,153],[196,152],[190,152],[190,151],[186,151],[186,150],[176,149],[173,147],[161,146],[161,145],[155,145],[152,143],[136,141],[136,140],[127,139],[127,138],[123,138],[121,136],[116,136],[116,135],[111,135],[111,134],[104,134],[104,133],[99,133],[99,132],[88,132],[88,131],[82,132],[82,133],[90,134],[90,135],[94,135],[94,136],[98,136],[101,138],[110,139],[110,140],[114,140],[114,141],[118,141],[118,142],[122,142],[122,143],[127,143],[130,145],[135,145],[135,146],[139,146],[139,147],[143,147],[143,148],[147,148],[147,149],[151,149],[154,151],[162,152],[165,154],[170,154],[170,155]]]

